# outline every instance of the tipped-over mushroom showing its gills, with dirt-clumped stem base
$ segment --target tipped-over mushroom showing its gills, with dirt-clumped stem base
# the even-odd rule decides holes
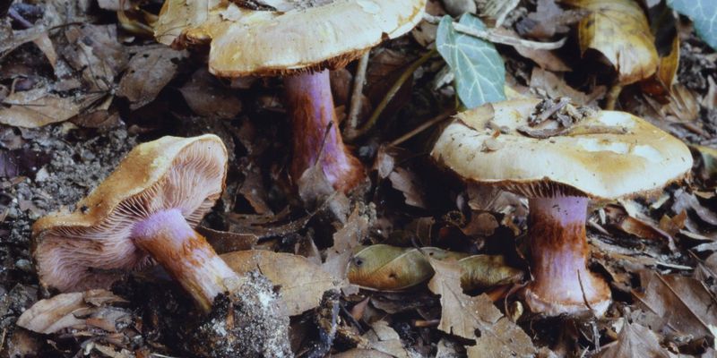
[[[271,285],[260,297],[193,229],[224,189],[227,160],[227,149],[212,134],[163,137],[135,147],[74,212],[50,214],[32,226],[40,283],[61,292],[109,288],[127,271],[155,260],[205,313],[224,294],[230,307],[252,306],[239,311],[248,309],[255,324],[267,326],[254,336],[255,345],[247,345],[232,335],[240,329],[238,318],[218,320],[229,337],[214,342],[217,350],[222,346],[247,356],[288,353],[289,322],[278,315],[279,298]]]

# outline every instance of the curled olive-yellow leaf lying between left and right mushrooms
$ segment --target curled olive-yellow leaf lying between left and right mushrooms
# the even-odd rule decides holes
[[[523,271],[505,264],[503,256],[473,255],[435,247],[421,249],[376,244],[361,248],[349,266],[352,284],[380,291],[399,291],[426,282],[434,275],[428,262],[456,260],[464,290],[519,282]]]

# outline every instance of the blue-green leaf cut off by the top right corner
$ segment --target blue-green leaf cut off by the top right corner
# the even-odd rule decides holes
[[[717,1],[715,0],[668,0],[675,9],[695,24],[695,31],[709,46],[717,50]]]

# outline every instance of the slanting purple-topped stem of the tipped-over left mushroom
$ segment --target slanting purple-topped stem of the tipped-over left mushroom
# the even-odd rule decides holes
[[[132,236],[205,312],[212,310],[214,297],[228,291],[229,282],[238,280],[237,273],[187,224],[178,209],[152,214],[134,226]]]

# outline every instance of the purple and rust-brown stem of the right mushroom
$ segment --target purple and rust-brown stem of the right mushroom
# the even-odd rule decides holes
[[[534,281],[524,294],[531,311],[556,316],[592,309],[600,316],[608,309],[608,285],[587,269],[587,204],[588,198],[576,196],[530,200]]]

